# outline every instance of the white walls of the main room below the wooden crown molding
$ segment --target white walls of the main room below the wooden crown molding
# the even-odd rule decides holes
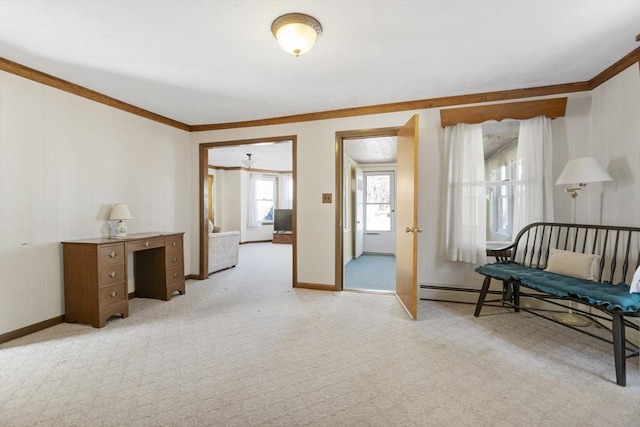
[[[615,179],[590,184],[580,195],[578,203],[587,206],[578,209],[580,222],[640,225],[639,74],[634,64],[591,93],[569,94],[567,116],[554,120],[554,179],[578,155],[595,156]],[[476,288],[480,277],[473,266],[439,255],[439,109],[189,135],[0,72],[0,333],[64,313],[60,241],[107,235],[114,202],[129,204],[130,233],[186,231],[186,273],[197,273],[200,142],[298,135],[298,280],[333,284],[335,207],[321,203],[321,194],[335,196],[335,132],[399,126],[414,113],[420,122],[419,222],[425,230],[418,242],[418,281]],[[567,220],[562,188],[554,201],[556,219]],[[239,218],[227,214],[225,222]]]

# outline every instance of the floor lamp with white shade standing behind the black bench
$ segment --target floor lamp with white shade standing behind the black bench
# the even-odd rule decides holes
[[[589,182],[612,181],[611,175],[593,157],[579,157],[567,162],[556,185],[570,185],[564,192],[571,197],[571,223],[576,222],[576,199],[578,192],[582,191]],[[577,187],[575,185],[578,185]],[[556,313],[554,316],[559,322],[572,326],[589,326],[589,319],[577,315],[571,311],[568,313]]]

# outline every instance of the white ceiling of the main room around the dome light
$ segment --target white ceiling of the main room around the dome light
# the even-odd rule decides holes
[[[289,12],[323,26],[299,58]],[[196,125],[586,81],[639,23],[638,0],[0,0],[0,56]]]

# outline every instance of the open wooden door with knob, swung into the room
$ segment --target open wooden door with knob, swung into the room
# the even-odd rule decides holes
[[[418,116],[398,131],[396,180],[396,296],[418,316]]]

